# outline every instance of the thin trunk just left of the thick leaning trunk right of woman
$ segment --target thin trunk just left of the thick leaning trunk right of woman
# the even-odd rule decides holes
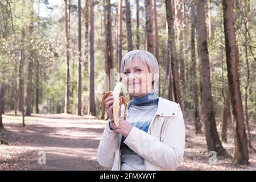
[[[193,116],[195,122],[196,134],[202,133],[200,115],[199,115],[199,104],[198,104],[198,88],[196,81],[196,46],[195,46],[195,28],[196,28],[196,18],[195,18],[195,6],[191,3],[191,61],[192,61],[192,87],[193,87]]]

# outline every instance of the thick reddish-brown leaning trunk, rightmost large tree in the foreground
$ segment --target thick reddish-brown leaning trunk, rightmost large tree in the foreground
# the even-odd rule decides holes
[[[243,119],[240,81],[238,74],[238,60],[236,47],[236,30],[234,28],[234,1],[222,1],[225,33],[226,64],[230,90],[230,101],[234,122],[235,153],[234,162],[248,164],[249,154],[245,123]]]

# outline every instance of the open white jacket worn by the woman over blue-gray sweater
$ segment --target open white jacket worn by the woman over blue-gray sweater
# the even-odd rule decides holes
[[[144,169],[152,171],[177,168],[183,160],[185,148],[185,125],[180,105],[158,98],[158,109],[148,132],[133,127],[124,141],[131,150],[144,158]],[[122,105],[121,116],[123,109]],[[121,138],[121,134],[110,130],[108,121],[97,150],[97,160],[101,166],[120,170]]]

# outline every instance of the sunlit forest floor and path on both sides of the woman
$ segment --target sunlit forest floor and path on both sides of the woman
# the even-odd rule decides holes
[[[184,118],[187,142],[183,163],[177,170],[256,170],[256,153],[251,149],[249,166],[234,164],[232,159],[217,159],[215,164],[209,164],[204,134],[196,135],[192,119]],[[22,127],[20,116],[13,112],[3,115],[6,131],[0,132],[0,140],[9,145],[0,145],[0,170],[109,170],[96,160],[106,121],[71,114],[32,114],[25,119],[26,127]],[[250,128],[256,148],[256,124]],[[232,131],[223,146],[230,155],[234,154]],[[46,164],[40,165],[42,151]]]

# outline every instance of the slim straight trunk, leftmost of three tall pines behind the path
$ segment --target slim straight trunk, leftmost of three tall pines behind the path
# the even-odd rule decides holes
[[[68,16],[68,0],[65,0],[65,45],[66,45],[66,80],[65,80],[65,113],[69,113],[69,30],[68,24],[70,23],[70,19]]]

